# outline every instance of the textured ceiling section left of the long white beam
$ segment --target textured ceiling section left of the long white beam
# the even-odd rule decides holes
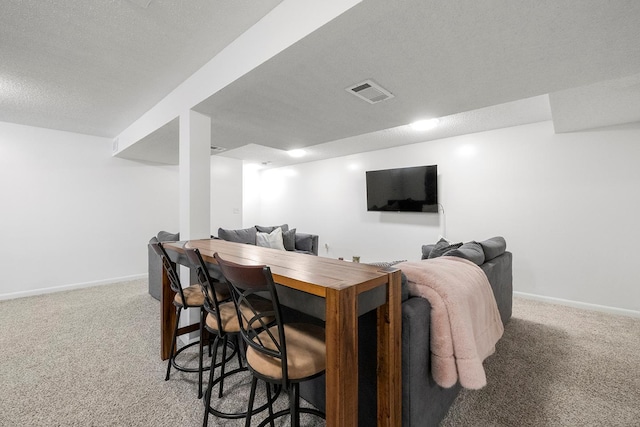
[[[3,0],[0,121],[115,137],[281,0]]]

